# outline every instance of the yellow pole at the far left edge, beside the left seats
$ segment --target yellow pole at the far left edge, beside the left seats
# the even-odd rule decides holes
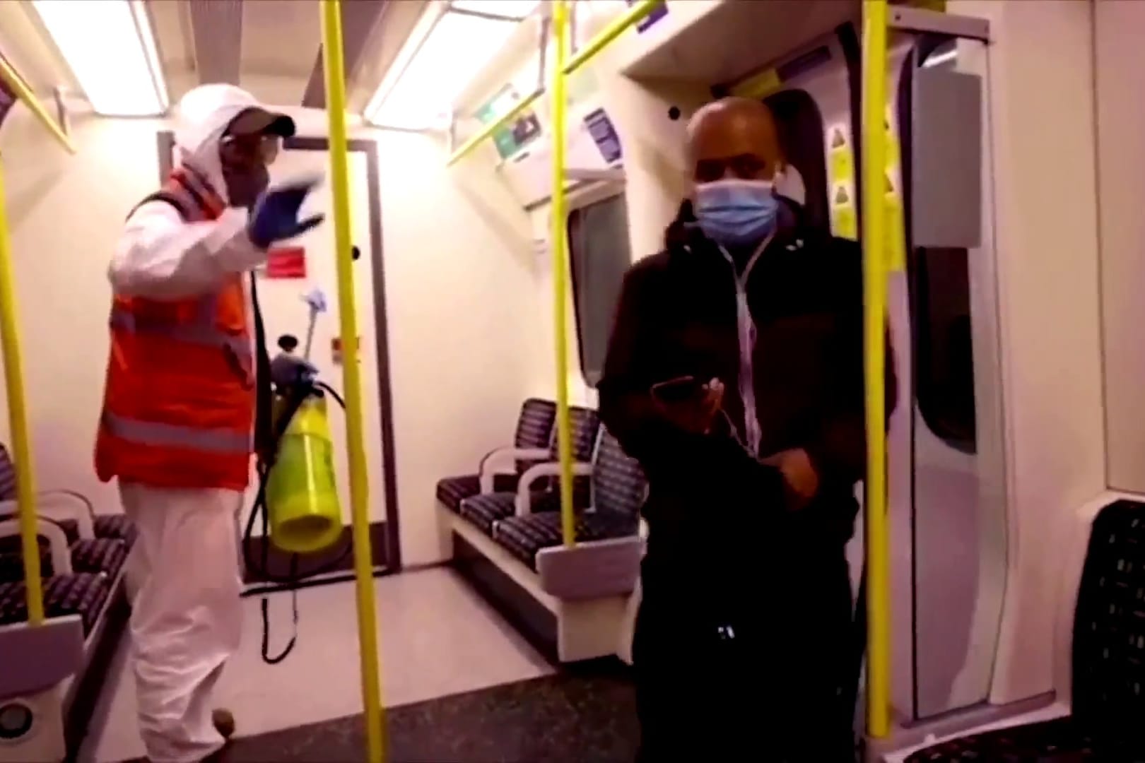
[[[16,283],[11,268],[11,239],[8,213],[3,209],[3,173],[0,172],[0,349],[3,351],[3,380],[8,389],[8,427],[16,460],[16,508],[19,512],[19,547],[24,556],[24,596],[27,622],[44,622],[44,581],[40,579],[40,543],[35,533],[35,485],[32,476],[32,447],[27,432],[27,402],[24,397],[24,367],[16,328]]]

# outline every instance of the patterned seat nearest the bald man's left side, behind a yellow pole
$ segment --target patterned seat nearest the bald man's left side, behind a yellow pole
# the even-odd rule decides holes
[[[592,508],[576,517],[576,540],[594,541],[637,534],[647,483],[640,464],[607,431],[600,439],[592,477]],[[497,523],[493,539],[513,556],[537,569],[537,551],[560,546],[556,511],[508,517]]]

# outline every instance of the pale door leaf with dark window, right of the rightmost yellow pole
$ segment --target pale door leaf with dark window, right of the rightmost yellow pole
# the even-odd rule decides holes
[[[916,720],[987,700],[1005,579],[994,248],[982,137],[985,43],[892,39],[889,310],[900,412],[890,438],[895,612],[909,612]],[[909,405],[906,402],[909,400]],[[906,499],[906,500],[905,500]],[[906,538],[910,539],[906,543]],[[906,601],[905,601],[906,599]],[[909,603],[908,606],[902,604]],[[905,618],[898,618],[903,626]],[[905,670],[906,668],[906,670]],[[909,702],[910,712],[905,706]]]

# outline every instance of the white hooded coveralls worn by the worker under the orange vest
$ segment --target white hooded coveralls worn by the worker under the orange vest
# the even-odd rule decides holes
[[[227,200],[219,141],[252,106],[248,93],[205,85],[179,104],[179,160]],[[246,235],[247,212],[185,223],[165,201],[127,220],[109,268],[117,295],[181,299],[216,289],[230,273],[266,260]],[[133,602],[132,662],[140,732],[153,763],[200,761],[223,745],[211,721],[211,691],[239,645],[238,514],[231,490],[172,490],[120,483],[124,510],[139,527],[140,589]]]

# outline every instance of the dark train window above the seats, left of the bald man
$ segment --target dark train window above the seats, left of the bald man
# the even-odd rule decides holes
[[[621,284],[632,263],[624,194],[574,209],[568,240],[581,373],[595,387],[605,367]]]

